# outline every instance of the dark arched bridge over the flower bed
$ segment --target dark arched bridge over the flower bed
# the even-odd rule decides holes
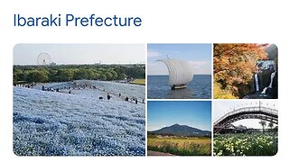
[[[214,122],[214,133],[224,129],[229,124],[243,119],[260,119],[278,124],[278,111],[265,106],[244,107],[226,113]]]

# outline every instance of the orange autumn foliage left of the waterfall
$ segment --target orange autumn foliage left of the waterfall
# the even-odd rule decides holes
[[[266,59],[267,44],[214,44],[214,98],[242,98],[250,90],[256,61]]]

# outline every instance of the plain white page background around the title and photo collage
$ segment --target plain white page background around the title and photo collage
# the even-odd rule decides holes
[[[1,161],[275,161],[288,157],[289,25],[286,1],[1,1]],[[139,16],[138,28],[14,27],[14,14]],[[16,157],[13,153],[13,48],[16,43],[268,42],[279,48],[279,151],[275,157]],[[24,57],[24,56],[23,56]]]

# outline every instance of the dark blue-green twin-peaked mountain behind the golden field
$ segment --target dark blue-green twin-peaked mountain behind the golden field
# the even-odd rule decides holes
[[[189,127],[187,125],[180,125],[180,124],[173,124],[170,127],[163,127],[160,130],[148,131],[148,134],[174,135],[174,136],[187,136],[187,137],[211,136],[211,132],[209,130],[199,130],[196,128]]]

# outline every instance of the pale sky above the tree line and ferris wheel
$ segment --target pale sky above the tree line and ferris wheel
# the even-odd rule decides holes
[[[17,44],[14,65],[37,65],[46,52],[56,64],[135,64],[145,61],[145,44]]]

